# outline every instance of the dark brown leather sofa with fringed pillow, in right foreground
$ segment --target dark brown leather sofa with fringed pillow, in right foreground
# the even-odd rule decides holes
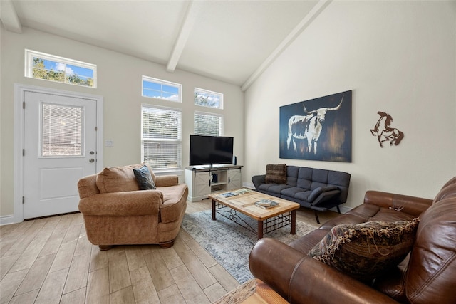
[[[411,220],[416,216],[420,222],[410,254],[368,283],[308,256],[338,224]],[[290,303],[456,303],[456,177],[433,201],[368,191],[364,204],[289,246],[274,239],[259,240],[250,253],[249,266],[256,278]]]

